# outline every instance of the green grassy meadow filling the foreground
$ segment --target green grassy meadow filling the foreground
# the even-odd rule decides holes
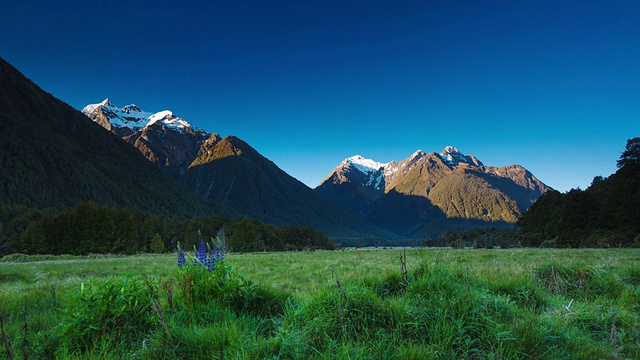
[[[402,253],[5,258],[0,358],[640,358],[638,249]]]

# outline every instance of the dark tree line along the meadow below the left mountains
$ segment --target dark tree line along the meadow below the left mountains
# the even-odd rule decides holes
[[[192,220],[93,202],[47,209],[0,205],[0,224],[0,256],[170,252],[178,242],[192,248],[198,232],[225,236],[229,250],[236,252],[334,248],[325,233],[311,226],[275,227],[247,217]]]

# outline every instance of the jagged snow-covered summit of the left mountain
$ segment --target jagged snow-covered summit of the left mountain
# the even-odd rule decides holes
[[[191,125],[185,119],[175,116],[169,110],[151,113],[142,111],[135,104],[119,108],[111,103],[109,98],[100,103],[85,106],[82,109],[82,113],[102,125],[102,127],[120,136],[131,135],[155,123],[179,132],[204,132],[204,130]]]

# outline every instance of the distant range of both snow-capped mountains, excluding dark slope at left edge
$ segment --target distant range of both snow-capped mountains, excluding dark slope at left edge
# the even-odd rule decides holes
[[[206,198],[262,221],[313,224],[334,236],[415,238],[513,226],[549,189],[522,166],[485,166],[448,146],[384,164],[356,155],[311,191],[241,139],[221,138],[171,111],[118,108],[106,99],[82,112]]]

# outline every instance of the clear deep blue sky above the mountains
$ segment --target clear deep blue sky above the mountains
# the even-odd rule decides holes
[[[13,1],[0,57],[71,106],[171,110],[317,186],[456,146],[585,189],[640,136],[640,2]]]

